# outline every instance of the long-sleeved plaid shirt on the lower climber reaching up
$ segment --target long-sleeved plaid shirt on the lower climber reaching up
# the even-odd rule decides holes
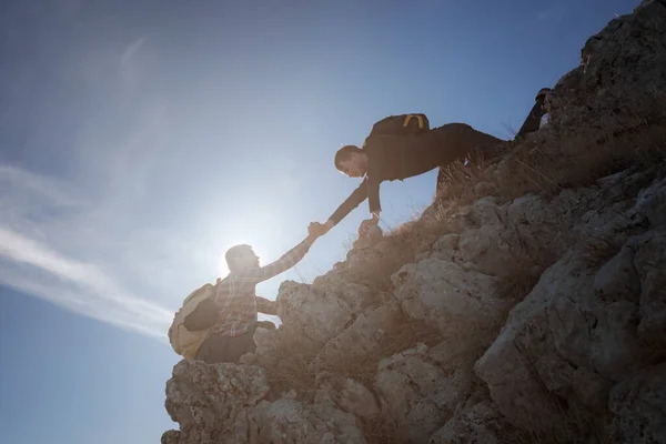
[[[211,327],[211,335],[239,336],[256,322],[256,284],[294,266],[310,250],[307,240],[265,266],[230,273],[218,284],[215,304],[222,315]]]

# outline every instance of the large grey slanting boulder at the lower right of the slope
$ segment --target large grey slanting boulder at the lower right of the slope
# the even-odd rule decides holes
[[[664,286],[652,281],[663,280],[663,242],[655,231],[630,238],[598,271],[569,252],[543,274],[476,364],[506,416],[554,432],[566,421],[556,396],[598,404],[609,382],[642,364],[639,336],[664,337]]]

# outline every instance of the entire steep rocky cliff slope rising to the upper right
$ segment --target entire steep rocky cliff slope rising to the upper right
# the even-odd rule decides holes
[[[666,2],[582,50],[548,123],[371,233],[242,365],[181,361],[202,443],[666,443]]]

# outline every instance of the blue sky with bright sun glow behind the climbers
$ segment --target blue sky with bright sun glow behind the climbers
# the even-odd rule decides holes
[[[0,442],[159,442],[182,299],[263,263],[357,185],[335,150],[425,112],[512,137],[637,1],[9,1],[0,6]],[[436,171],[382,185],[383,225]],[[296,269],[344,259],[363,203]]]

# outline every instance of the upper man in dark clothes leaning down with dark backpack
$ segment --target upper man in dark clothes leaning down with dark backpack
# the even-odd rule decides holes
[[[539,129],[546,113],[543,88],[535,98],[514,141]],[[345,145],[335,153],[335,168],[350,178],[364,178],[352,194],[323,224],[331,230],[366,198],[372,218],[363,221],[359,234],[380,221],[380,184],[384,181],[405,180],[440,168],[436,193],[443,185],[446,167],[456,160],[473,158],[491,161],[505,152],[511,141],[477,131],[465,123],[448,123],[431,129],[425,114],[392,115],[376,122],[363,147]]]

